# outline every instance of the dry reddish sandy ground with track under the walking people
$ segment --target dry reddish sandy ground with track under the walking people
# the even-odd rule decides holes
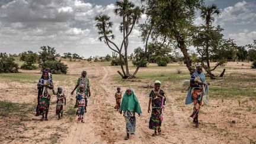
[[[121,114],[113,107],[116,87],[121,85],[111,81],[116,69],[110,66],[100,66],[94,62],[68,63],[69,75],[66,79],[64,91],[68,97],[68,105],[75,103],[75,95],[71,95],[75,80],[82,69],[86,69],[91,80],[92,96],[88,102],[88,112],[85,114],[85,123],[78,123],[76,119],[69,121],[64,116],[56,120],[55,104],[50,106],[49,121],[39,121],[34,117],[34,111],[28,111],[28,118],[22,121],[15,117],[0,119],[1,143],[255,143],[256,142],[256,103],[255,100],[243,98],[241,105],[233,99],[215,99],[210,105],[201,108],[200,127],[191,123],[190,114],[192,105],[184,105],[185,93],[173,91],[163,85],[162,89],[168,94],[168,103],[164,112],[162,135],[152,137],[152,130],[148,129],[150,114],[147,113],[148,94],[150,88],[143,88],[148,82],[136,82],[135,94],[142,107],[142,116],[136,117],[136,133],[124,140],[126,136],[125,122]],[[145,71],[145,69],[142,69]],[[155,70],[157,71],[157,70]],[[246,69],[245,69],[246,71]],[[40,76],[40,75],[39,75]],[[54,75],[53,75],[54,76]],[[59,81],[56,80],[56,85]],[[120,81],[121,82],[121,81]],[[130,81],[131,83],[133,81]],[[151,84],[151,83],[149,83]],[[0,82],[0,92],[9,87],[18,85],[18,89],[25,94],[25,102],[36,103],[36,85],[5,84]],[[121,87],[125,89],[125,87]],[[5,100],[21,103],[19,98],[13,98],[11,92],[5,94]],[[55,98],[52,98],[55,101]],[[68,107],[68,105],[66,107]],[[65,108],[66,108],[65,107]],[[248,110],[248,107],[251,109]],[[73,115],[73,117],[76,117]],[[18,119],[18,118],[17,118]],[[8,125],[8,123],[10,123]],[[232,122],[233,121],[233,122]],[[17,124],[18,123],[18,124]],[[3,126],[5,125],[5,127]],[[18,127],[14,127],[17,125]],[[8,129],[8,127],[10,129]]]

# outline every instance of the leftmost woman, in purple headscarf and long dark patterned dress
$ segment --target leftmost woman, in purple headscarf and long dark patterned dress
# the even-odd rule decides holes
[[[53,89],[53,81],[51,78],[49,78],[48,71],[43,71],[43,75],[41,76],[39,83],[37,84],[37,89],[39,89],[39,91],[37,95],[36,116],[41,115],[41,120],[48,120],[47,114]]]

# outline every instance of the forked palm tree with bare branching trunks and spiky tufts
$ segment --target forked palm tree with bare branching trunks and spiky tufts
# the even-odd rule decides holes
[[[114,14],[119,15],[122,18],[119,25],[119,30],[123,35],[123,40],[121,41],[120,46],[117,46],[117,44],[113,41],[115,38],[113,31],[111,30],[113,27],[113,22],[110,21],[110,17],[108,15],[103,14],[95,17],[95,21],[97,21],[95,26],[97,27],[98,34],[100,35],[99,40],[104,41],[104,43],[107,44],[111,50],[118,53],[120,61],[124,60],[125,69],[123,63],[121,63],[121,71],[123,73],[120,71],[117,72],[119,72],[122,78],[130,78],[131,75],[128,68],[127,55],[129,36],[130,33],[132,33],[135,24],[139,23],[140,15],[143,11],[128,0],[117,1],[116,7],[117,8],[114,9]]]

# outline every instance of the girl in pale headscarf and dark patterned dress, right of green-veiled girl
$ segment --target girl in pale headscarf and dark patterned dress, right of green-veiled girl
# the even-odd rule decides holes
[[[151,111],[151,105],[152,105],[152,111],[151,111],[151,118],[149,119],[149,129],[155,130],[152,136],[161,134],[161,124],[163,120],[163,112],[166,102],[165,92],[160,89],[161,82],[155,81],[155,88],[151,91],[149,94],[149,107],[148,107],[148,113]],[[157,131],[157,132],[156,132]]]

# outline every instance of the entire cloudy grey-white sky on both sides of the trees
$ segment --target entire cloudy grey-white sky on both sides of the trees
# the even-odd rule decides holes
[[[140,4],[140,0],[132,0]],[[111,50],[98,41],[94,17],[110,15],[114,22],[114,41],[120,41],[119,17],[113,14],[114,0],[0,0],[0,52],[38,52],[40,46],[55,47],[61,55],[65,52],[78,55],[105,56]],[[225,29],[225,38],[238,45],[256,39],[255,0],[206,0],[222,11],[215,19]],[[142,20],[145,20],[142,15]],[[196,18],[196,24],[203,20]],[[130,36],[130,52],[143,46],[137,28]]]

